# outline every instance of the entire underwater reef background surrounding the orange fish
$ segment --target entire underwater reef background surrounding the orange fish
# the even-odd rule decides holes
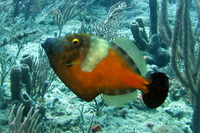
[[[1,133],[200,133],[199,0],[0,0],[0,17]],[[164,104],[78,98],[41,48],[72,33],[132,40],[169,77]]]

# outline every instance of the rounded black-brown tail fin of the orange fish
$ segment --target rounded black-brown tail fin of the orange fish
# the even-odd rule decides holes
[[[148,85],[149,92],[142,95],[145,105],[149,108],[157,108],[162,105],[169,91],[168,77],[164,73],[153,73],[150,75],[151,84]]]

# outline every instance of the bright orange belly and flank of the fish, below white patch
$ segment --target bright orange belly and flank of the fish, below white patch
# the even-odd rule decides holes
[[[83,59],[82,56],[76,62],[82,62]],[[65,85],[85,101],[91,101],[101,93],[123,94],[128,88],[145,90],[148,84],[148,81],[135,73],[114,49],[109,49],[109,54],[96,65],[92,72],[83,71],[81,63],[69,68],[65,64],[52,65]]]

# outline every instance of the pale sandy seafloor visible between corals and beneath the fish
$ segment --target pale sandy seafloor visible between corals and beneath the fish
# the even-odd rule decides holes
[[[147,11],[144,11],[147,9]],[[99,11],[101,10],[101,11]],[[102,11],[103,10],[103,11]],[[136,10],[136,11],[135,11]],[[127,13],[135,13],[135,17],[131,19],[125,18],[125,27],[118,31],[119,34],[126,34],[132,39],[128,24],[137,17],[143,17],[144,22],[149,22],[148,4],[140,3],[135,10],[129,10]],[[171,11],[175,12],[175,5],[170,6]],[[98,6],[94,10],[96,14],[103,13],[106,15],[104,7]],[[173,13],[169,14],[173,18]],[[94,14],[95,14],[94,13]],[[97,15],[98,16],[98,15]],[[95,19],[95,18],[94,18]],[[126,20],[127,19],[127,20]],[[172,19],[173,20],[173,19]],[[79,29],[81,21],[76,19],[70,20],[65,25],[63,31],[74,32]],[[45,25],[41,25],[45,27]],[[32,40],[26,44],[20,53],[20,56],[31,53],[37,55],[39,45],[48,37],[53,37],[57,32],[57,26],[48,26],[48,30],[38,39]],[[148,24],[147,24],[148,29]],[[15,54],[16,45],[8,45],[4,47],[9,54]],[[20,57],[19,57],[20,59]],[[46,118],[52,119],[58,126],[58,132],[83,132],[81,127],[88,131],[88,127],[92,120],[92,125],[101,125],[102,133],[191,133],[190,124],[192,118],[191,105],[187,105],[181,98],[178,101],[172,101],[169,97],[165,103],[157,109],[148,109],[140,99],[127,103],[122,107],[104,107],[99,116],[96,116],[95,111],[92,110],[94,101],[84,102],[74,95],[59,79],[56,79],[52,85],[54,89],[45,94],[44,100]],[[4,83],[5,100],[10,101],[10,80],[7,77]],[[54,98],[59,98],[55,104],[55,108],[51,109]],[[99,101],[101,97],[98,97]],[[41,103],[38,103],[41,104]],[[83,107],[84,122],[81,124],[80,109]],[[10,104],[8,105],[10,107]],[[0,110],[0,132],[8,131],[8,115],[10,108]],[[82,126],[81,126],[82,125]]]

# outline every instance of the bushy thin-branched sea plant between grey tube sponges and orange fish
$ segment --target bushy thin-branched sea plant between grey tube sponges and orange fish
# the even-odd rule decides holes
[[[56,78],[55,73],[50,69],[44,51],[39,47],[37,57],[25,54],[20,62],[21,82],[25,84],[26,93],[33,100],[44,99],[47,89]]]

